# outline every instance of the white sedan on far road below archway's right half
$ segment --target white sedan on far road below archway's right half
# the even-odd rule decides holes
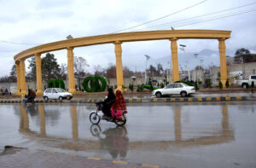
[[[180,95],[180,96],[189,96],[195,93],[195,87],[189,86],[188,84],[175,83],[167,84],[165,88],[153,90],[152,95],[156,97],[161,96],[171,96],[171,95]]]

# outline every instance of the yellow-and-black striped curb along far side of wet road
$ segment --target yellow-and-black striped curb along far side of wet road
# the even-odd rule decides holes
[[[79,101],[59,101],[38,100],[36,103],[95,103],[97,101],[104,101],[104,99],[84,99]],[[176,97],[176,98],[149,98],[149,99],[125,99],[126,103],[144,103],[144,102],[193,102],[193,101],[256,101],[256,97],[247,96],[218,96],[218,97]],[[0,103],[22,103],[23,101],[0,101]]]

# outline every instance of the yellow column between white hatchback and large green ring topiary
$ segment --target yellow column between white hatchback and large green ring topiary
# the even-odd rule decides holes
[[[68,68],[68,85],[69,92],[75,93],[75,79],[73,72],[73,48],[67,48],[67,68]]]

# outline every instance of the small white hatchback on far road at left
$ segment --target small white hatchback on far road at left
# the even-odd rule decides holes
[[[48,101],[49,99],[59,99],[62,101],[63,99],[72,99],[73,95],[66,90],[61,88],[48,88],[44,90],[44,100]]]

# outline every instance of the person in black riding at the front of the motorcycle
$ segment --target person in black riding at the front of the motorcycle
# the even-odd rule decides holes
[[[104,116],[102,117],[103,119],[107,119],[108,117],[111,117],[110,108],[112,107],[114,100],[115,100],[115,96],[113,94],[113,89],[109,88],[108,97],[105,101],[102,102],[103,104],[102,113],[104,113]]]

